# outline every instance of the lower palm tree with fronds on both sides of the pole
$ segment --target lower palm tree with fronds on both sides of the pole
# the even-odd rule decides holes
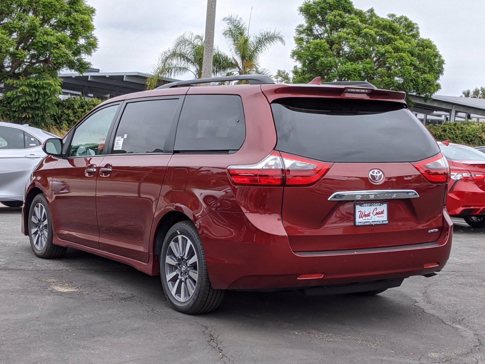
[[[146,79],[146,89],[153,90],[158,86],[162,77],[176,77],[184,73],[192,73],[194,78],[201,78],[203,59],[203,35],[192,32],[180,35],[172,47],[160,54],[157,64],[152,67],[153,77]],[[235,68],[231,58],[214,47],[212,75],[225,76]]]

